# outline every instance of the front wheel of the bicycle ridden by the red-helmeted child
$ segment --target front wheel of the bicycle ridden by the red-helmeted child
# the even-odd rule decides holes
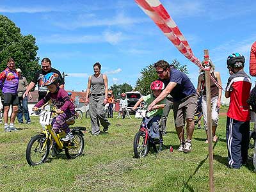
[[[148,154],[148,140],[147,143],[145,143],[146,135],[145,132],[139,131],[134,136],[134,142],[133,142],[133,151],[134,151],[134,157],[140,158],[145,157]]]

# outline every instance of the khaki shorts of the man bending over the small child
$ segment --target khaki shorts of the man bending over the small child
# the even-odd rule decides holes
[[[173,102],[175,127],[184,126],[185,120],[194,118],[197,109],[197,96],[191,95],[180,101]]]

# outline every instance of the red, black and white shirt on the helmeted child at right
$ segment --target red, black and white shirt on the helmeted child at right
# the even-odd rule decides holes
[[[228,78],[226,91],[230,92],[230,104],[227,116],[237,121],[250,120],[250,106],[246,102],[250,95],[251,78],[240,70]]]

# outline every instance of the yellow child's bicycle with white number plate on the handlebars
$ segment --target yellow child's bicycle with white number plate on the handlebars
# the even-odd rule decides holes
[[[49,156],[50,150],[59,154],[65,150],[68,159],[81,156],[84,150],[83,131],[85,128],[72,129],[74,138],[70,141],[61,141],[65,137],[65,132],[62,131],[56,134],[52,131],[51,120],[56,116],[55,111],[40,109],[36,111],[36,115],[40,115],[40,124],[45,125],[40,134],[36,134],[31,138],[26,149],[26,159],[29,165],[35,166],[44,163]],[[74,124],[74,118],[67,120],[67,124]],[[80,128],[80,127],[79,127]]]

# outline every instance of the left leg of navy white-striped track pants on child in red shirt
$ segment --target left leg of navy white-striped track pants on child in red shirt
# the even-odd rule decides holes
[[[241,141],[242,134],[240,132],[241,124],[244,122],[239,122],[233,118],[227,117],[227,127],[226,127],[226,139],[228,148],[228,165],[230,168],[240,168],[241,167]]]

